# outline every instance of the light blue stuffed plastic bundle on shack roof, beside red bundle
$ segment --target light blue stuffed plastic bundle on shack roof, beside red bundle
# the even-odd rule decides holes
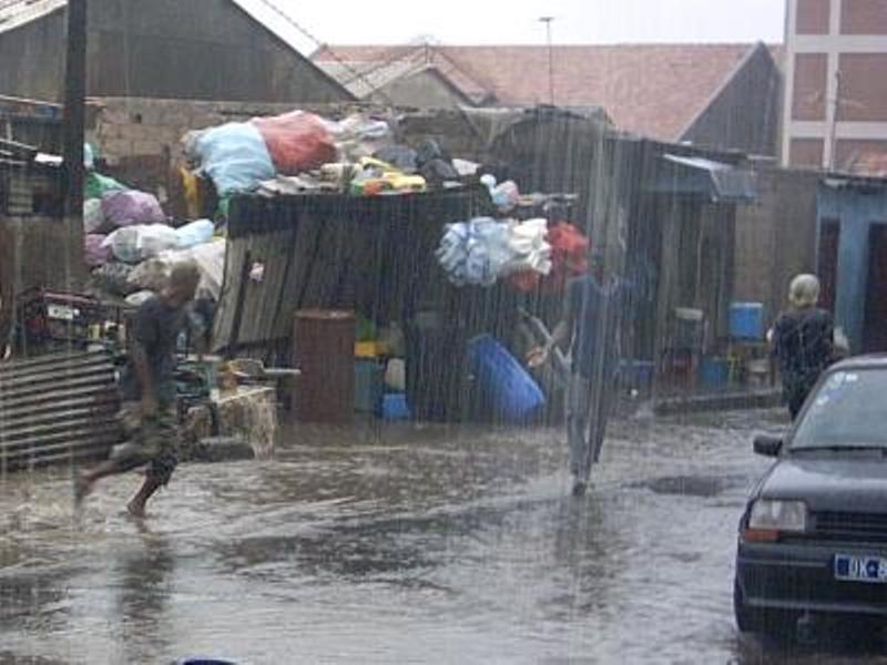
[[[202,133],[194,154],[201,168],[215,183],[221,197],[251,192],[277,175],[258,129],[248,123],[228,123]]]

